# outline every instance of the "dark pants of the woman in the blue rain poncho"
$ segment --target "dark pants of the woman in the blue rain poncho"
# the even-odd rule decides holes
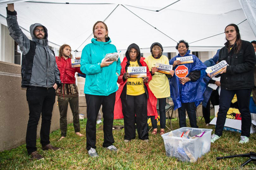
[[[196,116],[196,106],[195,103],[181,103],[181,107],[178,108],[179,113],[179,123],[180,127],[187,127],[186,125],[186,111],[189,118],[190,126],[198,128],[197,126],[197,116]]]

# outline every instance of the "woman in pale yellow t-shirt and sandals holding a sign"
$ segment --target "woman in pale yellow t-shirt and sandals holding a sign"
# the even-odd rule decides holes
[[[153,43],[150,47],[150,52],[152,55],[149,55],[144,60],[148,67],[149,71],[152,75],[152,80],[149,82],[149,88],[154,93],[155,97],[158,99],[159,102],[159,113],[160,113],[160,127],[161,131],[160,134],[164,134],[164,128],[166,123],[166,116],[165,116],[165,105],[166,105],[166,98],[170,96],[170,85],[168,82],[169,75],[157,72],[156,63],[167,64],[169,65],[168,57],[162,55],[163,47],[160,43]],[[173,76],[174,71],[171,71],[171,76]],[[151,123],[153,127],[153,131],[151,134],[157,133],[157,122],[155,116],[150,116]]]

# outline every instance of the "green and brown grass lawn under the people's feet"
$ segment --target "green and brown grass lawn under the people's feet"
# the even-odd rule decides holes
[[[200,118],[199,118],[200,120]],[[115,125],[123,125],[123,120],[114,120]],[[172,120],[174,129],[179,128],[177,119]],[[80,121],[81,133],[85,134],[86,119]],[[189,126],[189,121],[187,120]],[[68,125],[67,137],[58,142],[60,130],[50,134],[53,146],[63,147],[63,150],[43,151],[40,140],[37,140],[38,152],[43,160],[34,161],[27,156],[26,145],[21,145],[10,151],[0,152],[0,169],[239,169],[247,158],[229,158],[216,160],[217,156],[228,156],[256,152],[256,134],[252,134],[248,144],[238,144],[240,133],[223,131],[223,136],[214,144],[211,150],[195,163],[181,162],[174,157],[165,155],[162,137],[149,133],[149,143],[138,137],[130,143],[124,142],[124,129],[113,130],[114,145],[118,152],[111,152],[102,147],[103,124],[97,125],[96,150],[99,157],[91,158],[86,150],[86,137],[78,137],[74,133],[73,124]],[[206,127],[204,119],[198,122],[200,128]],[[160,130],[158,130],[160,132]],[[249,163],[246,168],[256,169],[256,164]]]

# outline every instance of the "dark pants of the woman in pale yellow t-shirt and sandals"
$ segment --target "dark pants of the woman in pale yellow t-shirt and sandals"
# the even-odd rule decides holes
[[[165,115],[165,105],[166,105],[166,97],[165,98],[158,98],[158,110],[160,114],[160,127],[161,129],[165,128],[166,123],[166,115]],[[155,116],[150,116],[151,124],[153,129],[157,128],[157,121]]]

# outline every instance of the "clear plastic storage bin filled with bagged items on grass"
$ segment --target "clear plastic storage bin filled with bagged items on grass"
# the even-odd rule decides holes
[[[204,131],[205,133],[202,137],[196,137],[195,139],[181,138],[182,132],[186,133],[188,130],[190,130],[189,136],[191,137]],[[174,156],[180,161],[197,161],[199,157],[210,151],[211,131],[212,129],[181,127],[172,131],[173,136],[169,136],[171,132],[162,134],[166,155]]]

